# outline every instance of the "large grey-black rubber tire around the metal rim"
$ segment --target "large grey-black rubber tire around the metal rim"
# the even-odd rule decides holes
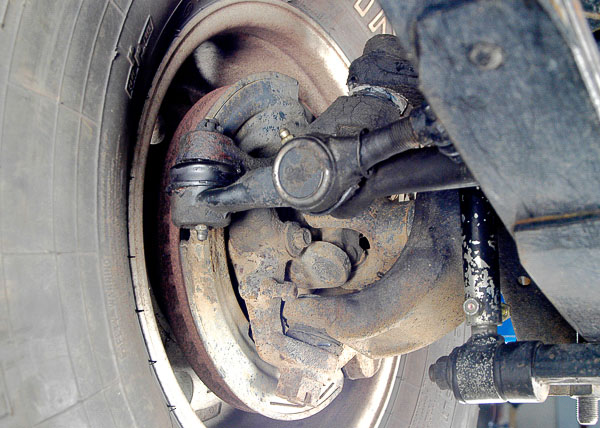
[[[3,428],[176,426],[135,314],[126,202],[144,88],[162,49],[157,35],[177,3],[0,1]],[[297,3],[351,58],[380,10],[361,16],[354,6],[366,0]],[[149,17],[130,98],[131,53],[140,52]],[[474,413],[425,374],[463,340],[457,332],[404,358],[385,426],[473,424]]]

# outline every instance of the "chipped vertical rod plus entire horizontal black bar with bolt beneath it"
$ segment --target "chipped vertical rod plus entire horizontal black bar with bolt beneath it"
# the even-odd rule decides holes
[[[478,188],[461,191],[463,309],[471,337],[429,367],[429,377],[462,403],[542,402],[549,395],[577,399],[582,425],[598,421],[600,345],[504,343],[495,213]]]

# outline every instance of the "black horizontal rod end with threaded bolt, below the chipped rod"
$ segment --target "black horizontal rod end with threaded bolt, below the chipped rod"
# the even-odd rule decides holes
[[[477,335],[438,359],[429,376],[465,403],[540,402],[550,393],[572,396],[588,406],[583,416],[591,420],[599,396],[598,358],[598,344],[503,343],[497,336]]]

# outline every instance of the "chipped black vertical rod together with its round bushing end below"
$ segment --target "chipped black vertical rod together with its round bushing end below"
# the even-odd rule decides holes
[[[463,232],[463,310],[471,338],[429,368],[441,389],[463,403],[536,402],[548,386],[533,376],[538,342],[505,344],[497,334],[502,323],[495,213],[479,188],[460,194]]]

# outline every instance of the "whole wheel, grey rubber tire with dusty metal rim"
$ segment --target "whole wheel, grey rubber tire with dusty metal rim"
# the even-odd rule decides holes
[[[259,71],[292,75],[318,115],[382,31],[391,26],[371,0],[0,5],[0,426],[474,423],[426,376],[464,328],[346,381],[316,415],[279,422],[197,393],[206,379],[189,371],[152,294],[160,262],[145,214],[157,208],[145,192],[160,181],[170,120],[206,88]],[[161,129],[163,103],[176,108]]]

